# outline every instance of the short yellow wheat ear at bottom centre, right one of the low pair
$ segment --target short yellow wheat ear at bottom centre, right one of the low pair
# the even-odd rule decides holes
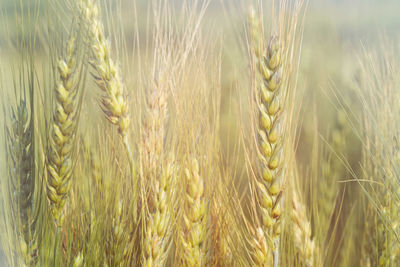
[[[197,159],[193,158],[185,169],[186,191],[183,223],[180,234],[184,266],[205,265],[206,201],[204,180],[200,176]]]

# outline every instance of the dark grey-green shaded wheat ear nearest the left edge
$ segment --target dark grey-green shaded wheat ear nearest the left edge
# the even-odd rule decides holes
[[[12,207],[18,217],[18,244],[24,263],[36,264],[37,243],[34,233],[33,197],[35,189],[35,163],[33,148],[33,122],[28,114],[26,102],[21,100],[13,110],[11,127],[7,128],[7,162],[9,163]]]

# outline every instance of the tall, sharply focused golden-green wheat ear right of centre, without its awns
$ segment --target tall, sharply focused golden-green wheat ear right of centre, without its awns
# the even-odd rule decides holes
[[[264,231],[274,241],[273,251],[277,250],[280,235],[280,199],[282,193],[281,176],[282,137],[280,125],[283,111],[281,95],[282,50],[277,37],[272,37],[266,54],[259,59],[259,73],[262,81],[259,86],[259,151],[261,162],[258,202],[262,213]]]

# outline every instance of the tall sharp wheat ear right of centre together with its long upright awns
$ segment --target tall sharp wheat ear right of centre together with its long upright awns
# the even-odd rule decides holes
[[[275,6],[276,4],[276,6]],[[253,228],[252,255],[260,255],[256,261],[279,265],[281,248],[282,199],[288,178],[287,165],[292,157],[295,128],[293,110],[296,96],[296,73],[301,47],[303,1],[272,1],[272,30],[263,35],[262,8],[256,16],[250,12],[249,55],[251,75],[252,140],[254,153],[248,159],[251,171]],[[276,7],[276,9],[275,9]],[[275,14],[275,12],[277,14]],[[285,206],[286,207],[286,206]],[[259,232],[261,229],[264,238]],[[255,236],[254,236],[255,235]],[[257,236],[258,235],[258,236]],[[264,240],[264,241],[263,241]],[[269,251],[261,250],[260,244],[268,245]],[[255,251],[254,251],[255,249]],[[259,264],[260,265],[260,264]]]

